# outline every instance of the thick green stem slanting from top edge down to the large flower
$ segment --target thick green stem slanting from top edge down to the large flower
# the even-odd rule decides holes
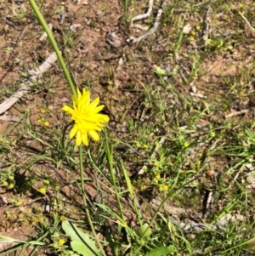
[[[39,20],[39,22],[41,23],[44,31],[46,32],[46,34],[48,35],[48,40],[51,43],[52,47],[54,48],[54,52],[57,55],[57,58],[59,60],[59,64],[61,66],[62,71],[64,72],[65,75],[65,79],[67,80],[69,87],[71,89],[71,94],[74,95],[75,98],[77,98],[77,90],[71,80],[71,77],[69,75],[69,72],[67,71],[67,68],[65,66],[65,61],[62,58],[62,55],[59,51],[58,45],[54,39],[54,36],[52,34],[52,32],[50,31],[50,29],[48,28],[48,25],[46,23],[46,21],[44,20],[40,10],[37,7],[37,3],[35,3],[34,0],[29,0],[29,3],[31,5],[31,8],[33,9],[34,13],[37,15],[37,19]]]

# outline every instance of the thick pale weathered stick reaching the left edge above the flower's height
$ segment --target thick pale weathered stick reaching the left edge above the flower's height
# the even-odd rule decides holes
[[[38,71],[31,71],[32,76],[21,84],[21,88],[12,96],[10,96],[7,100],[3,101],[0,104],[0,115],[7,111],[12,105],[14,105],[24,94],[27,94],[30,91],[29,85],[32,82],[37,81],[39,77],[42,76],[43,73],[48,71],[48,69],[54,64],[57,60],[56,54],[52,53],[48,56],[48,58],[39,66]]]

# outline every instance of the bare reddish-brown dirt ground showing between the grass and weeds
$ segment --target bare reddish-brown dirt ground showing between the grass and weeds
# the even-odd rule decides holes
[[[185,50],[178,54],[178,61],[173,60],[173,40],[178,40],[178,36],[171,33],[179,31],[177,24],[171,23],[163,16],[166,26],[160,26],[156,33],[137,45],[128,44],[127,38],[144,33],[142,29],[128,27],[124,14],[124,3],[118,0],[108,1],[42,1],[42,14],[48,23],[53,25],[54,37],[59,43],[59,48],[65,56],[72,76],[77,85],[88,86],[94,99],[100,96],[101,103],[105,105],[105,113],[111,118],[111,133],[116,137],[125,139],[122,134],[126,132],[126,120],[139,118],[139,113],[144,100],[144,88],[153,87],[158,78],[155,75],[156,66],[161,66],[167,70],[173,69],[173,65],[178,62],[183,67],[184,77],[186,73],[192,71],[195,56],[190,57],[188,53],[194,48],[199,48],[195,43],[186,42]],[[61,12],[61,4],[65,11]],[[238,3],[236,3],[237,5]],[[173,7],[173,3],[167,3],[167,8]],[[137,9],[144,12],[146,4],[137,3]],[[156,10],[155,10],[156,12]],[[60,14],[59,14],[60,13]],[[181,17],[181,14],[178,14]],[[202,14],[187,14],[184,24],[195,26]],[[41,39],[43,31],[38,25],[31,7],[26,1],[0,1],[0,100],[3,102],[16,92],[22,82],[26,81],[26,74],[29,70],[36,69],[52,53],[50,43],[47,38]],[[228,15],[223,14],[218,19],[218,26]],[[146,21],[141,22],[147,25]],[[176,26],[175,28],[173,26]],[[208,54],[207,59],[201,65],[200,73],[196,73],[192,82],[182,82],[182,76],[171,77],[169,82],[183,94],[188,94],[195,87],[195,94],[207,95],[207,99],[218,102],[219,108],[222,106],[221,97],[228,94],[229,88],[223,84],[222,77],[227,77],[229,81],[234,75],[242,72],[238,67],[252,66],[254,53],[254,32],[246,25],[243,25],[242,33],[247,38],[246,43],[240,43],[233,51],[226,54]],[[235,27],[229,26],[229,33]],[[231,31],[232,30],[232,31]],[[222,31],[219,31],[222,32]],[[116,36],[115,43],[109,43],[109,35]],[[117,46],[117,47],[116,47]],[[252,71],[251,71],[252,73]],[[221,81],[221,82],[219,82]],[[228,81],[225,81],[226,83]],[[228,94],[229,102],[236,102],[239,109],[251,108],[254,105],[252,100],[252,84],[247,85],[245,101],[236,99],[234,94]],[[173,103],[174,95],[169,95],[169,104]],[[199,98],[199,97],[198,97]],[[208,100],[208,101],[210,101]],[[198,100],[199,101],[199,100]],[[205,100],[204,100],[205,101]],[[207,102],[208,102],[207,101]],[[211,101],[211,102],[212,102]],[[70,102],[70,91],[65,82],[65,78],[57,63],[40,79],[37,84],[31,87],[31,92],[25,94],[15,105],[3,113],[7,117],[25,117],[27,125],[35,126],[38,131],[42,128],[38,119],[42,116],[41,108],[48,109],[47,120],[52,129],[63,128],[61,107]],[[210,103],[204,103],[210,105]],[[150,111],[148,109],[147,111]],[[220,112],[219,116],[224,120],[224,116],[229,112]],[[252,116],[247,117],[247,119]],[[12,121],[12,120],[11,120]],[[201,120],[201,122],[207,122]],[[205,125],[205,123],[201,123]],[[22,130],[21,130],[22,131]],[[1,167],[9,164],[11,168],[19,166],[19,175],[14,177],[16,184],[25,182],[26,168],[35,168],[35,174],[47,173],[52,179],[62,179],[62,198],[66,202],[77,202],[79,199],[74,196],[74,191],[70,185],[71,179],[68,170],[55,170],[45,162],[34,163],[27,158],[27,152],[31,154],[41,154],[44,151],[43,143],[39,144],[31,138],[31,134],[20,134],[17,122],[0,121],[0,135],[8,134],[8,139],[12,143],[12,152],[2,155]],[[52,134],[49,131],[45,137],[45,145]],[[19,138],[19,139],[17,139]],[[15,144],[15,139],[19,144]],[[22,162],[28,165],[22,166]],[[88,169],[88,173],[90,170]],[[0,233],[3,236],[15,237],[20,240],[27,240],[36,230],[31,224],[17,225],[16,219],[20,213],[25,213],[26,208],[35,209],[42,206],[42,199],[47,201],[48,197],[40,194],[37,190],[42,184],[34,184],[34,191],[29,195],[22,191],[0,189]],[[93,198],[96,190],[91,185],[88,193]],[[77,192],[77,191],[76,191]],[[50,193],[50,191],[49,191]],[[5,203],[11,201],[17,195],[21,195],[24,200],[22,207],[12,208]],[[71,208],[71,205],[69,206]],[[68,207],[67,207],[68,208]],[[7,221],[7,212],[15,220]],[[28,214],[28,213],[27,213]],[[34,212],[33,214],[40,214]],[[78,214],[78,213],[77,213]],[[31,214],[32,219],[32,214]],[[5,245],[0,243],[0,252],[4,251]],[[43,252],[41,252],[43,254]],[[42,255],[38,254],[38,255]],[[44,254],[43,254],[44,255]]]

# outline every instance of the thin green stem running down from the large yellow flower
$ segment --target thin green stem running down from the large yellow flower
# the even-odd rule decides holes
[[[83,176],[83,163],[82,163],[82,145],[80,145],[79,147],[79,156],[80,156],[80,176],[81,176],[81,189],[82,189],[82,201],[83,201],[83,204],[84,204],[84,207],[85,207],[85,211],[86,211],[86,215],[88,217],[88,223],[90,225],[90,228],[94,234],[94,239],[95,241],[97,242],[97,244],[99,245],[99,248],[101,250],[101,252],[103,253],[103,255],[105,256],[105,251],[104,251],[104,248],[102,247],[101,243],[99,242],[99,238],[96,234],[96,231],[94,230],[94,225],[93,225],[93,222],[92,222],[92,219],[91,219],[91,216],[90,216],[90,213],[89,213],[89,210],[88,210],[88,202],[87,202],[87,195],[86,195],[86,192],[85,192],[85,186],[84,186],[84,176]]]

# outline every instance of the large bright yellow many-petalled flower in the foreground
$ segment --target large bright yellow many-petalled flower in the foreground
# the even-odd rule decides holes
[[[77,135],[76,144],[88,145],[88,134],[95,141],[99,140],[99,134],[106,122],[109,122],[109,117],[99,114],[105,105],[99,105],[99,97],[93,102],[90,102],[90,92],[83,88],[82,93],[77,88],[78,98],[72,96],[73,107],[68,105],[62,107],[71,115],[71,119],[75,122],[71,129],[70,139]]]

